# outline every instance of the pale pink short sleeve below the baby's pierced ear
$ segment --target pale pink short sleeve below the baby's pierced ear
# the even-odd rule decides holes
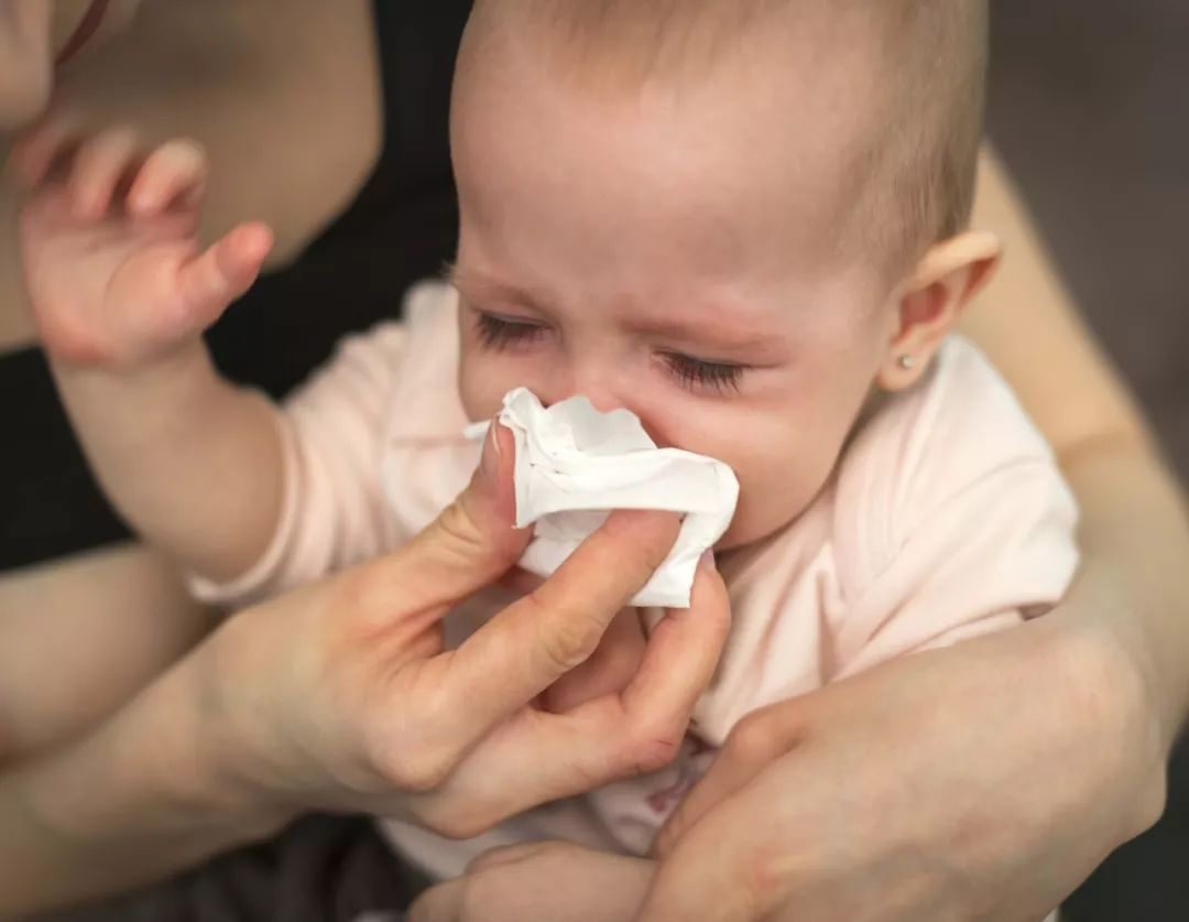
[[[835,678],[1043,614],[1077,569],[1076,522],[1046,457],[1008,462],[954,493],[857,589],[837,633]]]

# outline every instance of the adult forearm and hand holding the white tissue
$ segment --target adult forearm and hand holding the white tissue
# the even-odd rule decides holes
[[[443,648],[445,614],[528,542],[512,445],[495,427],[470,487],[401,551],[229,619],[92,734],[0,777],[0,918],[149,883],[309,809],[465,838],[671,759],[730,623],[709,563],[627,688],[565,715],[536,702],[668,554],[673,515],[617,513]]]

